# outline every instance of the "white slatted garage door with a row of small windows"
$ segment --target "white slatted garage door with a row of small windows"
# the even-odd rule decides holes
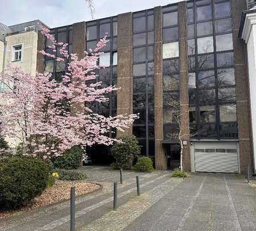
[[[238,173],[237,143],[196,142],[195,171]]]

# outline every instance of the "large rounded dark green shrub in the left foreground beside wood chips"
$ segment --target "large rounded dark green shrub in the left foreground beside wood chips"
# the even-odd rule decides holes
[[[42,194],[49,177],[48,166],[31,157],[0,159],[0,208],[15,209]]]

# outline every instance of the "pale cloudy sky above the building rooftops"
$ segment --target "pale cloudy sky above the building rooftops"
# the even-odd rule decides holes
[[[180,0],[94,0],[95,19],[150,9]],[[0,22],[11,26],[35,19],[48,27],[92,20],[85,0],[0,0]]]

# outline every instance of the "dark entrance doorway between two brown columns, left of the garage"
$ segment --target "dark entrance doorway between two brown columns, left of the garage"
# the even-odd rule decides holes
[[[167,167],[170,170],[174,170],[180,166],[180,145],[169,144],[166,146],[167,151]]]

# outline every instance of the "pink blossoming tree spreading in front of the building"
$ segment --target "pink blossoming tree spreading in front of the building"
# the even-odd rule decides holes
[[[68,44],[57,43],[47,28],[42,33],[52,42],[49,48],[53,53],[59,49],[60,56],[40,53],[56,62],[67,62],[68,71],[61,79],[54,79],[51,73],[36,73],[34,77],[9,66],[0,79],[7,89],[1,95],[6,103],[0,106],[3,135],[22,142],[26,147],[24,154],[43,159],[60,156],[74,145],[85,148],[96,143],[121,142],[110,138],[109,131],[124,131],[138,115],[105,117],[92,108],[95,102],[107,102],[107,95],[117,90],[115,86],[102,87],[101,82],[89,83],[96,79],[96,69],[105,68],[96,61],[107,43],[106,37],[79,60],[76,54],[69,55]]]

